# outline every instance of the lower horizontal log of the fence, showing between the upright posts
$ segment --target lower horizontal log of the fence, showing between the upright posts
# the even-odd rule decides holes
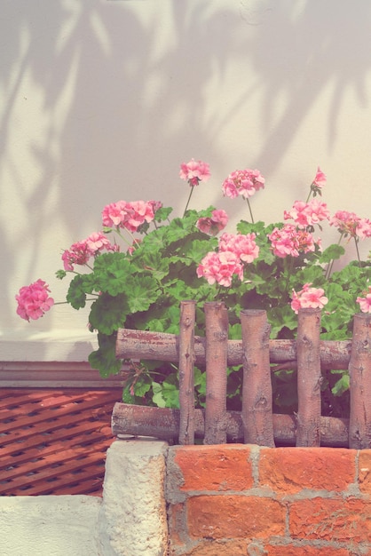
[[[154,436],[166,441],[178,441],[179,409],[153,408],[117,402],[112,413],[112,432],[115,435]],[[205,413],[194,409],[194,435],[203,438]],[[296,418],[273,413],[274,441],[280,446],[295,446]],[[228,441],[243,442],[241,413],[227,411],[226,436]],[[321,446],[348,447],[348,419],[320,417]]]

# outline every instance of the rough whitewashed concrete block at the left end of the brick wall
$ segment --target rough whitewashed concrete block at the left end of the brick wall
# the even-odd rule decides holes
[[[164,496],[168,444],[117,440],[107,450],[99,516],[104,556],[165,556],[168,525]]]

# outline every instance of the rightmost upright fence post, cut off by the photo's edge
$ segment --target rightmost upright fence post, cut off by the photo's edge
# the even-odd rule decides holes
[[[371,314],[354,315],[349,364],[349,447],[371,448]]]

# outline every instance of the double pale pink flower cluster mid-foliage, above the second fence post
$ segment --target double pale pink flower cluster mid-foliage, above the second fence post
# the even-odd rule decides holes
[[[209,252],[197,268],[197,276],[205,278],[209,284],[229,287],[233,275],[243,278],[243,263],[250,263],[259,255],[255,242],[256,234],[223,234],[218,243],[218,251]]]

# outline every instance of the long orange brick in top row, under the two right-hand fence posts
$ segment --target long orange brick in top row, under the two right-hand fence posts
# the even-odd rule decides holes
[[[303,488],[345,490],[355,479],[356,454],[334,448],[261,449],[260,486],[286,494]]]

